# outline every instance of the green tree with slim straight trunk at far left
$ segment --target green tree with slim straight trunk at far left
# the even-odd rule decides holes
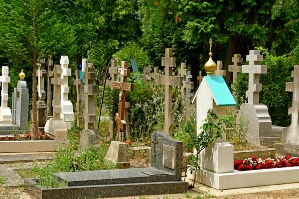
[[[77,49],[73,27],[63,22],[59,0],[0,0],[0,48],[11,64],[32,67],[32,139],[37,139],[36,63],[49,54],[73,55]]]

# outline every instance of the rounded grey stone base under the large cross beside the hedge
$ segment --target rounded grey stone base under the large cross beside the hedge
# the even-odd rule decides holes
[[[257,146],[271,146],[275,140],[282,138],[281,131],[272,131],[272,121],[265,104],[243,103],[238,117],[242,116],[248,123],[247,139]]]

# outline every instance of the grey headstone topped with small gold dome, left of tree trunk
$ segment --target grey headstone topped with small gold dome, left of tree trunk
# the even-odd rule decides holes
[[[23,70],[19,77],[12,94],[12,123],[18,126],[19,130],[28,130],[29,94]]]

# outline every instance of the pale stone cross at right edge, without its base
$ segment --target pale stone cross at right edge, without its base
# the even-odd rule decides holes
[[[289,114],[292,114],[292,123],[291,126],[298,126],[299,121],[299,66],[294,67],[294,71],[292,71],[292,77],[294,78],[294,82],[286,83],[286,91],[293,92],[293,100],[292,107],[289,108]],[[288,136],[288,135],[287,135]]]

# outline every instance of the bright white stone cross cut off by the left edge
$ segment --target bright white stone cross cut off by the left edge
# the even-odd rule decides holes
[[[7,106],[8,101],[8,83],[10,83],[10,77],[8,76],[8,66],[2,66],[2,75],[0,76],[0,82],[2,86],[1,90],[1,106],[0,106],[0,124],[12,124],[12,115],[10,108]]]

